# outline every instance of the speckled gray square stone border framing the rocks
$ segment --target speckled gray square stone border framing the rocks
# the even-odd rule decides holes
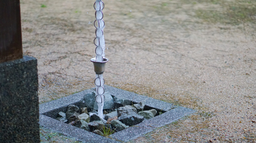
[[[173,104],[166,103],[157,99],[153,99],[147,96],[139,95],[133,92],[125,91],[111,86],[104,86],[105,91],[109,92],[112,96],[121,96],[128,100],[131,100],[133,103],[144,102],[145,107],[148,109],[154,108],[158,112],[162,110],[165,112],[160,114],[152,119],[143,121],[142,123],[137,124],[136,126],[129,127],[125,130],[119,131],[115,134],[110,135],[111,138],[106,138],[101,135],[97,135],[86,130],[77,128],[75,126],[63,123],[56,119],[57,113],[66,111],[68,105],[81,104],[81,99],[87,93],[90,93],[92,89],[87,89],[67,97],[63,97],[54,101],[43,103],[39,105],[39,123],[41,126],[52,129],[53,131],[62,133],[67,136],[75,137],[83,142],[90,143],[118,143],[118,142],[127,142],[133,140],[137,137],[143,136],[155,128],[170,124],[178,119],[183,118],[189,114],[196,112],[193,109],[185,108],[178,106],[173,109]],[[154,128],[150,127],[153,126]],[[152,129],[150,129],[152,128]]]

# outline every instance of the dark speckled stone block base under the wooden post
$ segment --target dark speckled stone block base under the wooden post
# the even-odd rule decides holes
[[[0,142],[40,142],[37,91],[34,57],[0,63]]]

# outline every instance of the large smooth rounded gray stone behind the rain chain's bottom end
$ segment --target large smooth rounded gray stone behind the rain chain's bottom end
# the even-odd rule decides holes
[[[105,96],[105,101],[104,101],[103,109],[114,108],[114,100],[112,96],[108,92],[105,92],[104,96]],[[96,92],[95,90],[92,90],[92,92],[84,95],[82,99],[82,102],[83,102],[82,104],[84,104],[88,109],[98,110],[98,105],[95,101],[95,97],[96,97]]]

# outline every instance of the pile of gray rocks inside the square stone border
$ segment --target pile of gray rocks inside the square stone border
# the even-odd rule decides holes
[[[59,112],[56,119],[78,128],[103,135],[102,132],[106,129],[118,132],[129,126],[136,125],[144,119],[153,118],[157,114],[155,109],[143,111],[145,104],[142,102],[131,105],[131,101],[127,99],[120,97],[113,98],[108,93],[104,95],[104,119],[101,119],[97,115],[97,104],[94,100],[96,96],[95,91],[83,97],[81,105],[84,107],[79,108],[75,105],[69,105],[66,113]]]

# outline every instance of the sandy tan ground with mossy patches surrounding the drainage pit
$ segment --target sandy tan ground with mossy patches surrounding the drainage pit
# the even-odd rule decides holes
[[[105,84],[197,111],[131,142],[256,142],[254,0],[103,2]],[[39,102],[94,87],[94,1],[20,3]]]

